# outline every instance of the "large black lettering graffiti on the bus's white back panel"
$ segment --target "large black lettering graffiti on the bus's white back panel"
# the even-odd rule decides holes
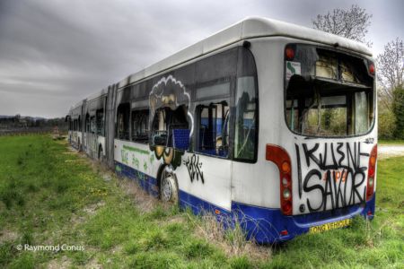
[[[361,158],[369,154],[361,151],[361,143],[294,146],[299,197],[305,202],[299,207],[302,213],[306,206],[312,213],[364,202],[367,167],[361,166]]]

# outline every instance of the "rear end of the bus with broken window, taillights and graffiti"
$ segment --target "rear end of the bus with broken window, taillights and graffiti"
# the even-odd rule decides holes
[[[274,173],[269,167],[266,175],[271,176],[263,180],[277,188],[277,193],[267,193],[278,197],[279,207],[238,205],[255,220],[247,223],[247,230],[259,242],[343,228],[356,215],[374,215],[377,121],[372,59],[343,48],[286,43],[283,64],[285,118],[273,126],[271,137],[260,136],[261,142],[267,141],[265,161],[277,168]],[[274,102],[281,97],[270,94],[271,104],[277,106]],[[261,94],[260,104],[268,102],[267,96]],[[268,121],[262,117],[268,108],[260,110],[261,126]],[[279,111],[270,111],[280,117]]]

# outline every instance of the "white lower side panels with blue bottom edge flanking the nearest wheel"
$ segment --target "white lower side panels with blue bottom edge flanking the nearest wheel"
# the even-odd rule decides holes
[[[128,178],[135,178],[145,190],[158,195],[158,160],[147,144],[114,140],[115,170]],[[231,210],[232,161],[185,152],[180,165],[173,168],[178,180],[180,202],[200,211],[206,204]]]

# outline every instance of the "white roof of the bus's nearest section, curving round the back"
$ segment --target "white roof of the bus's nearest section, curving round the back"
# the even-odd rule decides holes
[[[179,52],[155,63],[154,65],[150,65],[135,74],[127,76],[127,78],[119,82],[119,88],[142,80],[148,76],[158,74],[175,65],[180,65],[198,56],[203,56],[209,52],[215,51],[216,49],[224,48],[225,46],[233,44],[237,41],[243,39],[275,36],[303,39],[331,46],[338,43],[339,48],[347,48],[348,50],[356,51],[367,56],[372,56],[371,50],[363,43],[351,39],[345,39],[321,30],[314,30],[289,22],[280,22],[262,17],[249,17],[224,30],[216,32],[215,34],[199,41],[198,43],[180,50]]]

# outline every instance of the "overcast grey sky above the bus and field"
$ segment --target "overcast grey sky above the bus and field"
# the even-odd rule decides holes
[[[63,117],[94,91],[247,16],[312,27],[334,8],[373,14],[373,54],[403,39],[404,1],[0,0],[0,115]]]

